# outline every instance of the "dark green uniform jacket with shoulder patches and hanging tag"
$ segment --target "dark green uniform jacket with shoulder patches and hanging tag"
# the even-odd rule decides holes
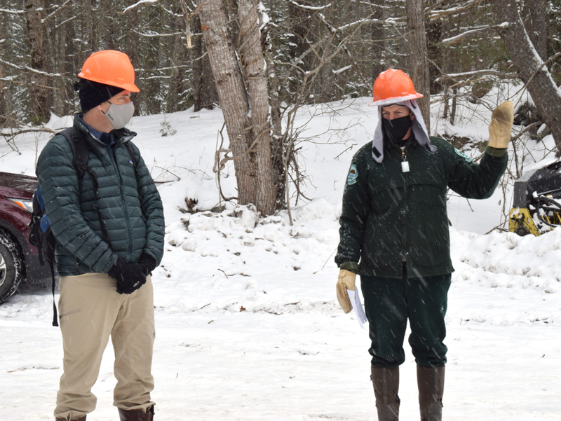
[[[365,276],[401,278],[454,271],[446,190],[465,198],[492,195],[506,169],[506,149],[487,148],[479,165],[444,139],[431,137],[431,154],[416,142],[405,151],[392,146],[384,162],[372,158],[372,144],[353,157],[339,219],[335,262]],[[402,172],[403,154],[410,172]],[[360,265],[357,263],[360,260]]]

